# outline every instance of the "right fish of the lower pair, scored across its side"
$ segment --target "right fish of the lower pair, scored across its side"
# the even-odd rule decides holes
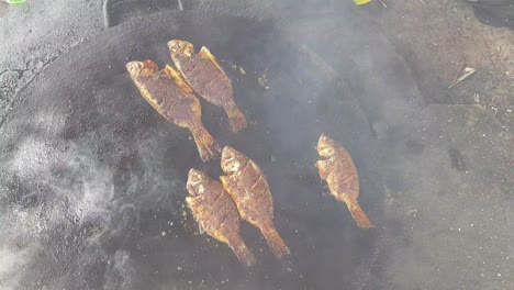
[[[226,146],[222,152],[220,180],[237,205],[241,217],[258,227],[280,258],[289,248],[273,225],[273,201],[268,181],[260,168],[248,157]]]

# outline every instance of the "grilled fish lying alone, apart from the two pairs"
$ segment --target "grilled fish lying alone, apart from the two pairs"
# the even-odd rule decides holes
[[[357,226],[373,227],[358,203],[359,175],[349,153],[325,134],[320,136],[316,150],[321,158],[316,161],[320,178],[326,181],[331,193],[346,203]]]

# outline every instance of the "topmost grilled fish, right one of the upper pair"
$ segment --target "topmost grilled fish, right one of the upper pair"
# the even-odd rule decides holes
[[[232,132],[247,127],[246,118],[234,101],[232,81],[214,55],[205,46],[195,54],[193,44],[181,40],[168,42],[168,48],[171,60],[189,86],[208,102],[225,110]]]

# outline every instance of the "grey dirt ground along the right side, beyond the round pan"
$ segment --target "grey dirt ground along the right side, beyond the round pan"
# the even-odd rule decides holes
[[[514,32],[461,1],[386,3],[362,12],[410,64],[425,104],[390,154],[390,239],[368,289],[513,289]],[[461,63],[477,72],[448,89]],[[420,146],[427,140],[437,145]],[[423,166],[445,155],[454,171]]]

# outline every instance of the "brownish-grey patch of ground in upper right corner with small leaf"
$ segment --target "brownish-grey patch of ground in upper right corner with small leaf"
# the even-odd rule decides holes
[[[425,101],[478,104],[505,126],[514,116],[514,33],[480,23],[463,1],[376,1],[365,13],[410,63]],[[452,89],[461,66],[477,72]],[[428,72],[428,74],[426,74]]]

